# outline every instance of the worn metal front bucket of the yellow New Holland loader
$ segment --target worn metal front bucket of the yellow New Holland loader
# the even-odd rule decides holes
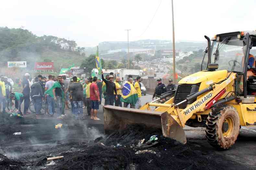
[[[185,132],[179,123],[167,112],[161,113],[151,110],[104,106],[104,130],[111,133],[114,130],[123,130],[126,125],[145,124],[147,128],[158,128],[164,136],[186,143]]]

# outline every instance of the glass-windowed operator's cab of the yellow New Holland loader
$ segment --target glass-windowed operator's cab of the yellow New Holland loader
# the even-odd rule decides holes
[[[212,38],[212,43],[208,37],[205,38],[208,40],[208,62],[202,62],[202,70],[237,73],[236,94],[243,98],[248,95],[255,98],[256,31],[217,34]]]

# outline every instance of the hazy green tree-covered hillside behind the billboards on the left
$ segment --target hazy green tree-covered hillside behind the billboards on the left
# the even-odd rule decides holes
[[[80,66],[85,58],[85,48],[77,47],[74,40],[54,36],[38,37],[21,28],[0,27],[0,66],[6,68],[8,61],[27,61],[27,70],[35,62],[54,61],[55,72],[60,67]]]

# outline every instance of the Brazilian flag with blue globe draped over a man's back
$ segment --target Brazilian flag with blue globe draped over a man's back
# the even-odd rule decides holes
[[[122,102],[134,104],[138,101],[138,94],[134,86],[127,82],[123,85],[122,96],[120,99]]]

